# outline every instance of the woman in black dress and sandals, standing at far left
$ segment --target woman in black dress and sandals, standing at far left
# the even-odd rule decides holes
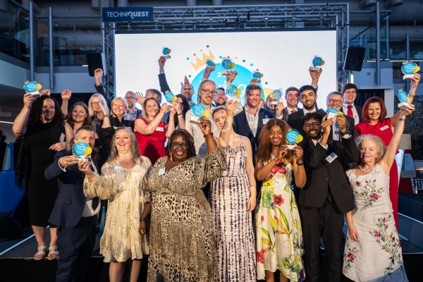
[[[57,181],[47,181],[44,170],[51,164],[54,154],[63,149],[70,150],[73,130],[64,120],[59,103],[42,95],[39,98],[25,94],[23,109],[13,124],[13,133],[23,136],[20,146],[16,176],[18,186],[28,195],[30,223],[38,243],[34,259],[44,259],[47,254],[45,235],[50,225],[51,241],[49,259],[59,257],[56,226],[49,224],[49,216],[56,201]]]

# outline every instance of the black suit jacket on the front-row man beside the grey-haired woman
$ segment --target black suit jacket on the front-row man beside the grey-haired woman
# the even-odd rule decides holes
[[[323,207],[330,188],[332,199],[341,212],[350,212],[355,204],[344,166],[360,158],[357,145],[350,137],[341,138],[341,141],[328,140],[327,146],[328,149],[319,143],[314,145],[311,139],[302,144],[307,181],[304,188],[295,188],[298,201],[306,207]],[[326,158],[332,153],[338,157],[329,163]]]

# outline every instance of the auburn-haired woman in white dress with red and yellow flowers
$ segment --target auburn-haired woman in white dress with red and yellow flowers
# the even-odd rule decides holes
[[[261,199],[255,216],[257,227],[257,279],[304,281],[301,256],[304,254],[300,214],[290,184],[302,188],[306,182],[302,165],[302,148],[288,150],[286,133],[289,125],[269,120],[259,135],[255,157],[255,174],[263,180]]]

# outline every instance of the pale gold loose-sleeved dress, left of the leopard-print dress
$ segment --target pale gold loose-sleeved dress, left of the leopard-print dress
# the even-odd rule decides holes
[[[144,209],[147,176],[152,163],[141,157],[131,172],[118,161],[102,167],[102,176],[94,173],[94,180],[84,179],[86,197],[109,200],[104,233],[100,240],[100,254],[104,262],[125,262],[142,259],[148,254],[148,239],[139,233],[140,215]]]

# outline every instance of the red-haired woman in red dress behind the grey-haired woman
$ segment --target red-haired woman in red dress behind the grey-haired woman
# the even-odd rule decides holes
[[[420,75],[415,74],[411,79],[411,90],[408,94],[411,104],[415,95],[417,85],[419,84]],[[415,106],[410,105],[407,111],[414,111]],[[393,130],[396,128],[398,118],[403,110],[398,111],[391,118],[386,118],[386,107],[384,100],[381,97],[372,97],[367,99],[362,109],[363,122],[355,125],[354,129],[358,134],[372,134],[376,135],[384,141],[388,146],[393,137]],[[391,171],[389,173],[389,196],[391,197],[393,216],[398,229],[398,168],[396,161],[393,161]]]

